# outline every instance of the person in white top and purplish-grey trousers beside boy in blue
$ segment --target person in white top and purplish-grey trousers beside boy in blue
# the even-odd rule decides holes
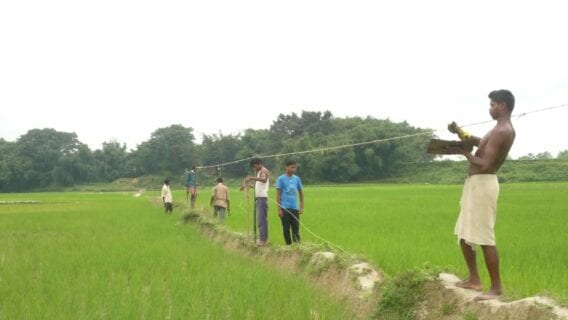
[[[259,158],[252,159],[250,166],[256,172],[256,176],[247,176],[245,185],[241,190],[248,187],[251,181],[255,181],[254,195],[256,205],[256,217],[259,230],[259,246],[265,246],[268,241],[268,186],[270,185],[270,172],[262,165]]]

